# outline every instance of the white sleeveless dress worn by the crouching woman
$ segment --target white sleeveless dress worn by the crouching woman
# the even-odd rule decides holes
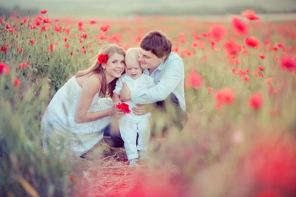
[[[111,116],[89,123],[76,124],[74,121],[81,91],[82,88],[73,76],[57,91],[47,106],[41,123],[41,138],[45,152],[48,151],[46,140],[48,138],[59,144],[60,137],[63,136],[66,139],[64,143],[74,151],[76,156],[83,155],[103,138],[104,129],[111,123]],[[100,111],[112,106],[110,98],[101,97],[98,94],[94,97],[88,112]],[[58,145],[56,149],[59,149]]]

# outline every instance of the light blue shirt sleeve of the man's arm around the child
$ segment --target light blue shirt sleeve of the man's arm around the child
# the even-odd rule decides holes
[[[184,76],[184,63],[182,59],[176,59],[165,66],[163,76],[156,86],[131,92],[134,103],[154,103],[166,99],[173,92]]]

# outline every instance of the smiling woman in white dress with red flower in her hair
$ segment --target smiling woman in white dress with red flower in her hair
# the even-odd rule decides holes
[[[57,91],[42,118],[42,142],[48,151],[48,139],[64,143],[81,156],[102,138],[111,117],[124,112],[111,107],[116,80],[125,69],[125,51],[116,44],[107,44],[99,52],[95,63],[80,70]],[[108,98],[102,98],[106,95]]]

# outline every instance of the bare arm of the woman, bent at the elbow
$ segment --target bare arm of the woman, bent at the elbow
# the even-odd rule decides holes
[[[81,95],[74,115],[75,123],[88,123],[112,115],[112,108],[87,112],[94,96],[98,94],[100,85],[100,78],[96,75],[91,75],[83,80]]]

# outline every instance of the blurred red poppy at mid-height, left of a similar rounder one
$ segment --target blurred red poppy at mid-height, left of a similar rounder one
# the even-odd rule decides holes
[[[216,108],[221,108],[223,104],[230,105],[235,99],[235,92],[231,88],[218,90],[215,94]]]

